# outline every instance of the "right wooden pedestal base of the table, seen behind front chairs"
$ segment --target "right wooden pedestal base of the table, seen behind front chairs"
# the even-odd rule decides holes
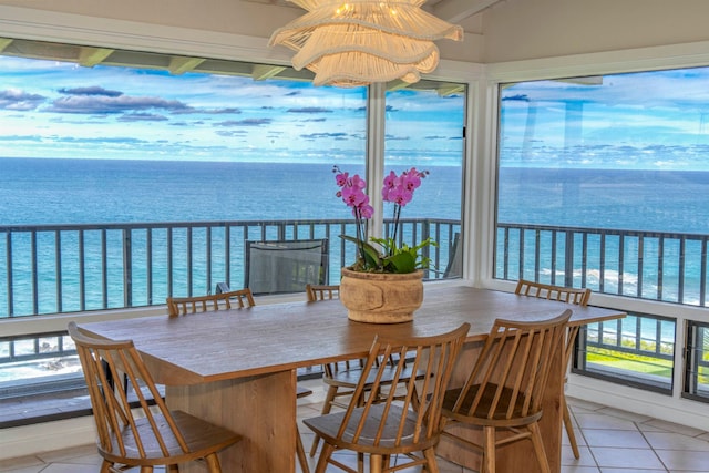
[[[456,370],[451,379],[452,387],[460,387],[465,382],[482,343],[469,343],[463,347]],[[540,429],[544,439],[544,449],[549,461],[552,473],[558,473],[562,469],[562,389],[564,389],[564,370],[562,369],[562,352],[554,358],[551,368],[547,390],[544,398],[544,415],[540,420]],[[456,435],[471,439],[482,444],[482,430],[465,425],[451,425],[446,430]],[[445,436],[435,449],[438,455],[467,469],[480,470],[481,455],[472,450],[464,449]],[[499,472],[525,472],[538,473],[540,469],[535,459],[532,442],[521,441],[497,449],[496,466]]]

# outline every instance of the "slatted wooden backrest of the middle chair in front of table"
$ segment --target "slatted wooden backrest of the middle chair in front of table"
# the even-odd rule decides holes
[[[347,435],[348,442],[367,442],[373,448],[397,448],[402,442],[436,442],[442,429],[443,392],[469,329],[470,325],[464,323],[456,330],[435,337],[377,337],[352,398],[364,401],[350,402],[338,436]],[[395,360],[395,364],[380,363],[380,358]],[[412,366],[407,366],[408,362]],[[386,385],[382,383],[383,374],[392,368],[395,372],[393,382]],[[421,376],[409,379],[402,389],[404,393],[387,390],[388,385],[397,385],[403,373],[411,370]],[[387,392],[383,399],[381,392]]]

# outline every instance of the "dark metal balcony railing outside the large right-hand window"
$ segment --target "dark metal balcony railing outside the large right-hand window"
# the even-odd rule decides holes
[[[709,235],[497,224],[495,277],[706,307]]]

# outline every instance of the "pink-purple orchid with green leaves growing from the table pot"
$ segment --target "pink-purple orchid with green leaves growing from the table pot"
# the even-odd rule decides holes
[[[372,217],[374,209],[366,193],[367,183],[358,174],[350,175],[341,172],[338,166],[335,166],[332,172],[336,174],[335,179],[339,187],[336,195],[352,208],[357,227],[356,236],[340,235],[341,238],[357,245],[357,260],[350,269],[367,273],[408,274],[428,268],[431,260],[421,255],[421,249],[427,246],[436,246],[435,241],[427,238],[415,246],[397,243],[401,210],[412,200],[414,191],[421,186],[421,181],[429,174],[428,171],[418,171],[412,167],[399,175],[391,171],[384,177],[381,195],[386,203],[393,204],[392,229],[389,237],[371,237],[369,241],[367,240],[367,222]]]

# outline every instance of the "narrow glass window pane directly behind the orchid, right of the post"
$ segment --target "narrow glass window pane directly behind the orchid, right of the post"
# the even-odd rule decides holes
[[[402,210],[408,244],[431,237],[432,279],[462,276],[462,182],[465,86],[425,81],[387,92],[384,175],[411,167],[425,171],[413,199]],[[384,203],[384,218],[393,205]]]

